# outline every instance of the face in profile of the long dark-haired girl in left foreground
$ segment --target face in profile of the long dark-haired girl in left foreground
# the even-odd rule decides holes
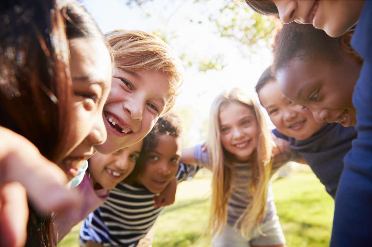
[[[102,40],[77,38],[69,40],[69,46],[73,82],[71,123],[61,152],[63,160],[56,163],[73,178],[93,155],[93,145],[106,140],[102,110],[109,95],[112,72],[110,55]]]

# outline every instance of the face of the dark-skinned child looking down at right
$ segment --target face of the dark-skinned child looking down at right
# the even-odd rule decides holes
[[[308,107],[318,122],[356,125],[352,103],[360,66],[345,60],[334,63],[324,59],[292,59],[276,72],[283,94],[299,105]]]

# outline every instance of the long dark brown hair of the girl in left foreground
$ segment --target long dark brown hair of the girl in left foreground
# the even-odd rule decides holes
[[[95,37],[107,44],[80,3],[60,3],[0,3],[0,125],[26,137],[52,161],[66,143],[70,123],[67,39]],[[29,208],[26,246],[57,246],[50,215]]]

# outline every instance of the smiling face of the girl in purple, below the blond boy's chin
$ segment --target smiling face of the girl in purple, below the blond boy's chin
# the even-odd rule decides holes
[[[123,181],[134,169],[140,157],[142,143],[124,147],[110,155],[94,154],[89,160],[89,172],[93,184],[104,189],[112,189]]]

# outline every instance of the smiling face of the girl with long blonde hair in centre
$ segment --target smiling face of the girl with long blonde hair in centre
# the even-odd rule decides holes
[[[219,111],[219,131],[222,146],[238,162],[247,162],[257,149],[259,127],[253,111],[232,101],[222,104]]]

